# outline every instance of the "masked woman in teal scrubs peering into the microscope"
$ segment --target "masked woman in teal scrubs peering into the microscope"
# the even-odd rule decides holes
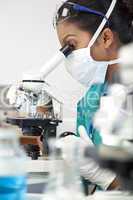
[[[87,88],[86,95],[77,105],[77,127],[84,125],[96,146],[102,143],[102,137],[93,126],[94,114],[118,69],[119,48],[133,39],[133,1],[118,0],[108,18],[105,15],[111,3],[111,0],[67,0],[56,16],[61,46],[69,44],[75,49],[66,60],[66,69]],[[106,21],[104,28],[94,38],[102,20]],[[114,174],[103,173],[103,182],[105,176],[106,184],[103,187],[99,184],[103,189],[119,186]],[[99,182],[95,180],[95,183]]]

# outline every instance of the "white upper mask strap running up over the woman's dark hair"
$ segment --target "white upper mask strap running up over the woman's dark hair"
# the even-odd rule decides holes
[[[107,23],[107,19],[109,19],[109,17],[111,16],[114,8],[115,8],[115,5],[117,3],[117,0],[112,0],[112,3],[106,13],[106,18],[104,18],[100,24],[100,26],[98,27],[97,31],[95,32],[95,34],[93,35],[91,41],[89,42],[89,45],[88,45],[88,49],[90,49],[90,47],[92,47],[92,45],[95,43],[95,41],[97,40],[98,36],[100,35],[101,31],[103,30],[105,24]]]

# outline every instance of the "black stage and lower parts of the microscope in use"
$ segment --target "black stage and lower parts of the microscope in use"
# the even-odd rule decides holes
[[[23,135],[40,136],[43,143],[43,153],[49,154],[48,139],[56,137],[56,128],[61,120],[37,119],[37,118],[7,118],[7,123],[19,126]],[[28,156],[37,160],[40,156],[40,149],[37,145],[25,145]]]

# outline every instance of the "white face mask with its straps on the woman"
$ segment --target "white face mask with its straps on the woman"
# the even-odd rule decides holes
[[[109,18],[117,0],[113,0],[106,14]],[[88,87],[93,83],[104,83],[108,65],[117,64],[120,59],[112,61],[95,61],[90,55],[90,49],[95,43],[99,34],[106,24],[104,18],[96,33],[92,37],[87,48],[73,51],[66,59],[65,65],[70,75],[84,86]]]

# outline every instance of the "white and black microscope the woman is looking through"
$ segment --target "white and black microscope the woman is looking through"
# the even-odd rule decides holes
[[[38,137],[44,156],[49,154],[48,139],[56,137],[57,126],[62,122],[62,102],[51,94],[50,85],[44,80],[72,51],[72,46],[65,45],[38,74],[24,75],[19,86],[11,87],[8,93],[18,116],[7,117],[7,122],[19,126],[25,136]],[[38,145],[28,144],[25,150],[33,160],[40,157]]]

